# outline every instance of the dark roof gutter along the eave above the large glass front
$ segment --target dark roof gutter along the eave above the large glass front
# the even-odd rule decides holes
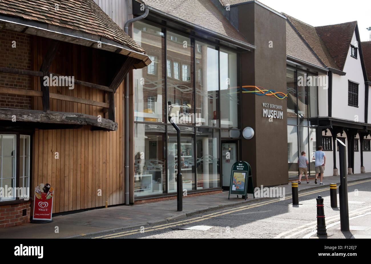
[[[227,41],[228,43],[233,43],[236,46],[241,47],[243,49],[247,49],[247,50],[250,50],[250,51],[253,50],[253,49],[256,49],[256,46],[254,46],[252,44],[243,42],[241,40],[234,39],[233,37],[228,37],[226,35],[220,34],[218,32],[215,32],[213,30],[207,29],[205,27],[198,26],[197,24],[188,22],[187,20],[184,20],[184,19],[181,19],[179,17],[173,16],[171,14],[165,13],[165,12],[163,12],[161,10],[155,9],[154,7],[148,6],[148,9],[150,9],[151,11],[153,11],[156,14],[159,14],[161,16],[167,17],[167,18],[169,18],[171,20],[174,20],[174,21],[177,21],[177,22],[179,22],[181,24],[185,24],[187,26],[194,27],[195,29],[202,30],[202,31],[207,32],[209,34],[218,36],[220,38],[220,40]]]

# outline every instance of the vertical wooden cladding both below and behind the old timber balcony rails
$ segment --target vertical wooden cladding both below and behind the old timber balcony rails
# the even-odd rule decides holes
[[[45,40],[35,37],[34,49],[39,55],[34,56],[34,70],[40,67],[39,59],[47,47]],[[105,60],[98,55],[91,56],[82,52],[86,47],[77,46],[68,49],[61,43],[50,71],[87,82],[98,82],[105,69],[93,69],[93,63],[104,65]],[[73,52],[78,54],[74,58]],[[61,55],[62,54],[62,55]],[[100,60],[100,61],[99,61]],[[98,62],[99,61],[99,62]],[[101,72],[102,71],[102,72]],[[110,76],[111,77],[111,76]],[[33,89],[40,91],[40,78],[32,77]],[[99,83],[99,82],[98,82]],[[32,188],[40,183],[50,183],[55,189],[53,213],[101,207],[108,201],[109,205],[123,204],[124,191],[124,85],[119,86],[115,93],[115,115],[118,123],[117,131],[92,131],[91,126],[79,129],[36,130],[33,136]],[[105,102],[105,92],[98,89],[75,85],[73,90],[68,87],[50,86],[50,92],[75,96],[76,98]],[[40,97],[33,101],[35,110],[42,110]],[[79,102],[68,102],[50,99],[50,110],[59,112],[79,112],[88,115],[105,117],[103,108]],[[59,159],[55,159],[55,152]],[[101,196],[98,196],[101,189]]]

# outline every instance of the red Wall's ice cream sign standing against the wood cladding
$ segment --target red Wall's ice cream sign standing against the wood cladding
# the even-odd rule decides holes
[[[33,220],[52,220],[54,188],[40,183],[35,188],[33,200]]]

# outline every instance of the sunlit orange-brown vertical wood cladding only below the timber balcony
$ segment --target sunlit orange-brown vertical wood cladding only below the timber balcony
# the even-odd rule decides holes
[[[115,94],[117,103],[122,89]],[[123,107],[116,106],[118,131],[91,131],[91,126],[35,131],[32,188],[49,183],[55,189],[53,213],[124,203]]]

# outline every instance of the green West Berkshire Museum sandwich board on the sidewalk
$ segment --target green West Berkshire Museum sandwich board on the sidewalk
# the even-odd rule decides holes
[[[246,194],[253,194],[255,198],[251,167],[246,161],[234,162],[232,166],[228,199],[231,194],[244,195],[245,200]]]

